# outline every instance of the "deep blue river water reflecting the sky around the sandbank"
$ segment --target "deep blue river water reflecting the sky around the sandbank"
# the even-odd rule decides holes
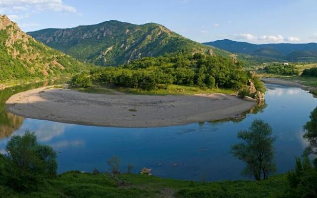
[[[23,134],[26,129],[35,131],[41,143],[58,151],[59,172],[92,171],[94,167],[105,171],[106,159],[117,155],[122,170],[133,163],[135,172],[150,167],[158,176],[215,181],[243,179],[240,172],[244,164],[229,153],[230,145],[239,141],[239,130],[261,118],[272,126],[277,137],[276,163],[278,173],[283,173],[293,168],[295,156],[300,156],[307,146],[302,126],[317,100],[299,88],[267,87],[267,107],[261,113],[248,114],[241,122],[131,129],[25,119],[14,134]],[[7,138],[0,140],[0,151],[6,142]]]

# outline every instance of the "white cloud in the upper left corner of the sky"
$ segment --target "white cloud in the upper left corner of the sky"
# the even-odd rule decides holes
[[[45,10],[77,13],[75,7],[62,0],[0,0],[0,12],[10,15],[12,20],[20,20],[31,13]]]

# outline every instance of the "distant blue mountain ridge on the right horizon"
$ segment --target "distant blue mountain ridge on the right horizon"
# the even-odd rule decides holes
[[[228,39],[204,43],[234,53],[277,58],[287,61],[317,61],[317,44],[250,44]]]

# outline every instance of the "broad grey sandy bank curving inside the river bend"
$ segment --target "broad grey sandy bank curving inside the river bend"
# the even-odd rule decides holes
[[[39,88],[13,95],[7,110],[28,118],[111,127],[160,127],[236,117],[253,99],[223,94],[144,96]]]

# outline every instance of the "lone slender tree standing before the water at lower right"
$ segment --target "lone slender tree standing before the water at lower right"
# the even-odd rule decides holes
[[[261,119],[255,119],[248,131],[238,133],[238,138],[244,142],[231,146],[231,153],[246,163],[243,175],[261,180],[275,171],[275,138],[271,135],[272,128]]]

